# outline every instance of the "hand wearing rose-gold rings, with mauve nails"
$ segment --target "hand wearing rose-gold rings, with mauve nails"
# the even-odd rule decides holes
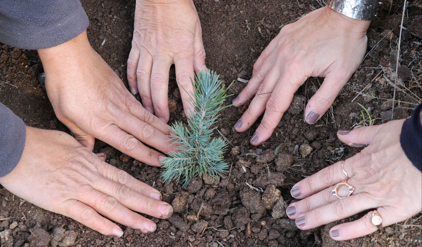
[[[347,133],[338,132],[339,139],[351,146],[369,144],[360,153],[326,167],[293,186],[291,194],[302,199],[290,204],[287,214],[302,229],[342,220],[368,209],[376,209],[382,226],[401,222],[422,210],[422,173],[410,162],[400,146],[404,120],[382,125],[361,127]],[[347,180],[355,188],[349,197],[331,195],[337,183]],[[339,189],[347,189],[342,186]],[[348,194],[341,195],[347,196]],[[335,240],[348,240],[376,231],[370,211],[357,221],[330,229]]]

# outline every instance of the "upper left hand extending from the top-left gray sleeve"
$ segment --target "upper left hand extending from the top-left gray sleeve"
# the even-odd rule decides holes
[[[158,151],[174,151],[168,125],[146,111],[122,80],[91,48],[86,31],[49,49],[38,50],[46,89],[57,118],[92,151],[94,137],[133,158],[159,166]]]

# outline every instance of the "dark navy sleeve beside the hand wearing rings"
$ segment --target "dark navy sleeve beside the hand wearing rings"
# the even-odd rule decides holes
[[[422,104],[419,104],[412,116],[401,127],[400,144],[407,158],[422,172]]]

